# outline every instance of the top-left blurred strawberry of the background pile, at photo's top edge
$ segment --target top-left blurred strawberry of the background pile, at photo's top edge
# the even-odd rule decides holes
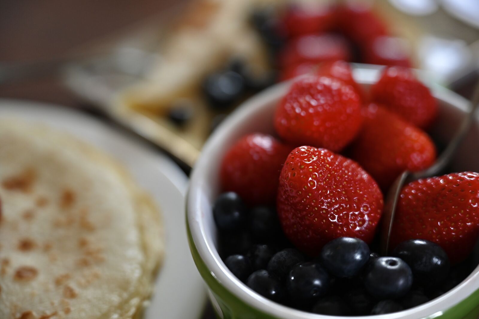
[[[327,5],[295,5],[286,11],[283,23],[288,35],[320,33],[331,28],[334,11]]]

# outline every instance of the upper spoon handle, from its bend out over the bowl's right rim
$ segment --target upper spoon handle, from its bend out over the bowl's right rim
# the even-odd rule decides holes
[[[464,119],[462,120],[461,125],[457,129],[456,134],[453,136],[445,150],[441,153],[441,155],[439,155],[434,164],[428,169],[412,173],[411,179],[418,180],[421,178],[435,176],[437,175],[437,173],[442,171],[447,166],[447,164],[449,164],[454,154],[456,154],[457,148],[461,144],[461,141],[468,134],[469,128],[474,122],[474,116],[477,109],[479,109],[479,82],[478,84],[476,84],[476,88],[474,89],[474,94],[471,100],[471,108],[469,109],[468,114],[464,116]]]

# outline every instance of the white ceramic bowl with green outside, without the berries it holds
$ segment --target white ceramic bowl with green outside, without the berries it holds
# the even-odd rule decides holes
[[[368,89],[379,77],[378,70],[355,69],[354,78]],[[220,192],[218,168],[224,153],[240,137],[262,132],[274,134],[273,114],[290,83],[281,83],[248,100],[217,128],[203,148],[192,173],[187,197],[190,247],[196,265],[210,288],[210,297],[220,318],[319,319],[348,318],[316,315],[270,301],[240,282],[225,266],[217,252],[217,231],[212,204]],[[430,133],[445,144],[454,133],[469,103],[441,87],[431,88],[439,103],[439,116]],[[478,122],[458,151],[452,171],[479,171]],[[394,314],[369,316],[371,319],[433,319],[479,317],[479,269],[454,289],[424,305]],[[362,317],[365,318],[365,317]]]

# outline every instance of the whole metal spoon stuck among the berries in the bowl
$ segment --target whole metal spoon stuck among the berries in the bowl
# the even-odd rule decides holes
[[[396,213],[396,207],[398,204],[402,186],[406,182],[435,176],[440,171],[444,170],[444,168],[447,166],[447,164],[449,164],[454,154],[456,153],[456,150],[461,144],[461,141],[468,134],[469,128],[474,121],[474,115],[477,109],[479,109],[479,83],[476,85],[476,88],[474,90],[469,112],[465,115],[464,119],[461,122],[461,125],[456,131],[456,134],[451,139],[445,150],[437,158],[435,163],[424,171],[402,172],[389,188],[388,195],[386,196],[386,201],[384,204],[384,212],[382,217],[383,228],[381,231],[381,253],[383,255],[386,255],[389,250],[389,242],[391,238],[394,215]]]

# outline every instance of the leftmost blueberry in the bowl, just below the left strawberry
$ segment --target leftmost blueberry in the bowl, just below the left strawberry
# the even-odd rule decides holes
[[[243,228],[247,217],[246,206],[238,194],[223,193],[213,206],[213,218],[220,231],[236,231]]]

